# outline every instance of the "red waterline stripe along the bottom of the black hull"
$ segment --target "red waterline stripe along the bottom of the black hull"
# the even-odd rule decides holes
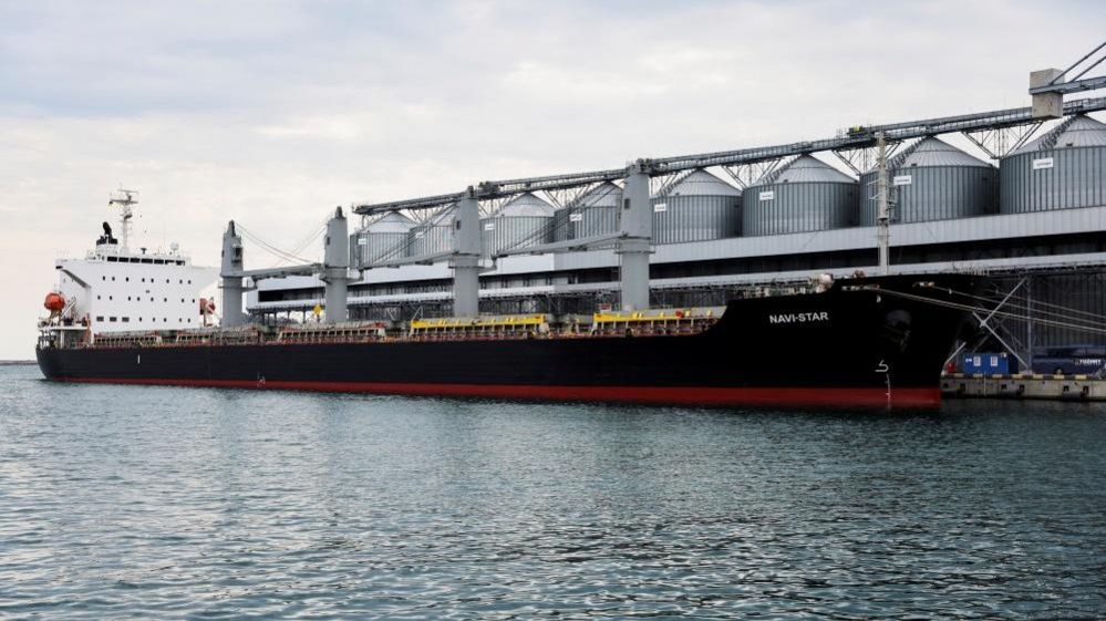
[[[266,382],[249,380],[175,380],[59,377],[63,382],[101,384],[155,384],[349,393],[403,394],[424,396],[479,396],[550,401],[613,401],[680,405],[837,405],[883,407],[885,389],[814,387],[699,387],[699,386],[540,386],[514,384],[414,384],[381,382]],[[891,391],[895,407],[936,407],[941,390],[898,389]]]

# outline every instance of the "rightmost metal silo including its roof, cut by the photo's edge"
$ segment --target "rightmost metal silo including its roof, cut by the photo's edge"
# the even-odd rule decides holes
[[[1106,205],[1106,124],[1072,116],[1002,158],[1003,214]]]

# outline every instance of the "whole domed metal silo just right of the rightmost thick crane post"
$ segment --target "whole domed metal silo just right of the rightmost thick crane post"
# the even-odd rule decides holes
[[[697,168],[652,198],[653,244],[734,237],[741,229],[741,190]]]

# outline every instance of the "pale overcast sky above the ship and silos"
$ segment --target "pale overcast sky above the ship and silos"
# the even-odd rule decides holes
[[[217,265],[231,217],[293,247],[355,200],[1029,105],[1104,33],[1094,1],[0,0],[0,359],[120,184]]]

